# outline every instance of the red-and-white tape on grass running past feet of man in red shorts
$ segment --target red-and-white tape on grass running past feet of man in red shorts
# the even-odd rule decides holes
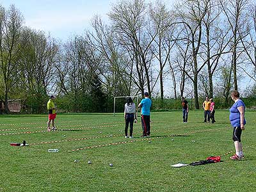
[[[103,126],[95,126],[95,127],[81,127],[81,128],[73,128],[73,129],[57,129],[56,131],[26,131],[26,132],[8,132],[8,133],[0,133],[1,135],[14,135],[14,134],[31,134],[31,133],[38,133],[38,132],[58,132],[58,131],[73,131],[73,130],[85,130],[85,129],[97,129],[97,128],[104,128],[104,127],[117,127],[124,124],[116,124],[116,125],[103,125]]]

